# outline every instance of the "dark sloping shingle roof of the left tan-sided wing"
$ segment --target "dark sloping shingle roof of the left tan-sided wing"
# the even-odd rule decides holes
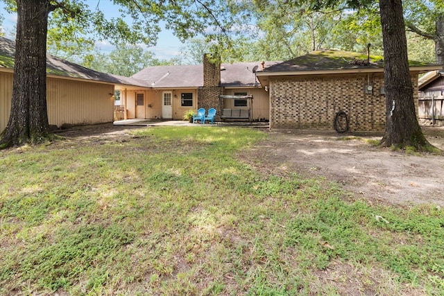
[[[0,67],[14,68],[15,42],[0,37]],[[86,67],[68,62],[53,55],[46,55],[46,73],[71,78],[83,78],[123,85],[147,87],[145,81],[94,71]]]

